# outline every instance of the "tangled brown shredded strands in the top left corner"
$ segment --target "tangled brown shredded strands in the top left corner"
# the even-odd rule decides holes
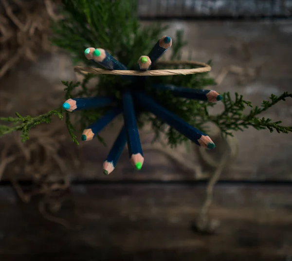
[[[55,1],[57,2],[57,1]],[[52,0],[0,1],[0,77],[18,61],[37,60],[41,51],[53,51],[49,42],[54,13]]]

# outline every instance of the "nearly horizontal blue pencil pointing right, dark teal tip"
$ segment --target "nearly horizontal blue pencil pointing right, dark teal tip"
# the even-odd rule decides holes
[[[222,100],[222,96],[210,90],[198,90],[190,88],[176,87],[173,85],[154,84],[151,86],[157,90],[170,91],[174,96],[188,99],[197,99],[201,101],[217,102]]]

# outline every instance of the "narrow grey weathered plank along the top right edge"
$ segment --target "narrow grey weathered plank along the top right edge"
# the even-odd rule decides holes
[[[139,0],[141,18],[291,16],[291,0]]]

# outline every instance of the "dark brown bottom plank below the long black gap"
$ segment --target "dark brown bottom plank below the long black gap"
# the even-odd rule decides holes
[[[58,216],[68,230],[43,219],[37,202],[19,204],[0,188],[0,258],[23,260],[289,260],[289,186],[218,186],[206,236],[190,229],[204,187],[189,185],[73,186]]]

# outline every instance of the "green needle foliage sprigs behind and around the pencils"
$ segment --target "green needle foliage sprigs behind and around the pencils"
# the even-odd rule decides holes
[[[138,58],[147,55],[157,40],[162,37],[166,27],[161,25],[141,27],[137,17],[136,0],[63,0],[61,12],[64,19],[54,24],[55,37],[52,42],[60,48],[68,51],[73,56],[74,64],[83,63],[87,66],[96,66],[84,56],[84,50],[88,47],[100,47],[106,49],[112,56],[117,57],[129,69],[135,70]],[[186,42],[183,41],[183,32],[178,31],[172,45],[172,60],[181,58],[181,51]],[[190,55],[190,59],[191,59]],[[211,64],[211,62],[208,62]],[[157,69],[153,67],[152,69]],[[161,69],[164,69],[160,67]],[[169,66],[167,67],[169,68]],[[174,68],[178,68],[175,66]],[[184,68],[187,68],[185,66]],[[101,94],[110,94],[120,97],[120,90],[125,86],[129,87],[129,82],[121,83],[121,78],[116,75],[99,75],[99,83],[92,89],[88,88],[89,81],[97,77],[96,75],[86,75],[82,82],[63,81],[65,86],[64,100],[68,98],[87,97]],[[204,89],[207,86],[215,85],[214,79],[207,73],[194,75],[172,75],[161,77],[148,77],[146,81],[146,92],[165,108],[174,112],[182,119],[204,130],[204,123],[215,123],[222,134],[232,135],[232,131],[244,130],[254,127],[257,130],[268,129],[271,132],[288,133],[292,127],[281,126],[280,121],[273,122],[271,119],[260,118],[259,114],[274,106],[287,97],[292,97],[290,93],[283,93],[280,96],[271,95],[269,101],[263,101],[260,107],[253,108],[251,102],[245,101],[242,95],[235,93],[233,97],[230,93],[223,94],[224,111],[218,115],[209,115],[208,108],[215,106],[213,103],[200,102],[196,100],[186,100],[177,98],[169,92],[153,91],[147,86],[152,83],[168,83],[176,86],[188,88]],[[135,86],[135,88],[139,88]],[[252,107],[246,113],[246,107]],[[0,125],[0,136],[21,131],[22,140],[29,139],[29,130],[41,123],[50,123],[53,115],[63,119],[65,113],[66,126],[73,142],[78,144],[75,133],[86,129],[93,121],[105,113],[105,109],[94,109],[75,112],[77,121],[74,124],[70,119],[69,112],[62,108],[57,108],[38,116],[21,116],[16,113],[16,117],[2,117],[0,121],[10,122],[8,126]],[[165,124],[151,114],[143,113],[139,119],[139,126],[146,122],[152,124],[156,138],[161,132],[167,131],[168,142],[176,146],[185,141],[186,138],[173,128],[166,130]],[[206,131],[207,132],[207,131]],[[103,142],[102,138],[98,139]]]

